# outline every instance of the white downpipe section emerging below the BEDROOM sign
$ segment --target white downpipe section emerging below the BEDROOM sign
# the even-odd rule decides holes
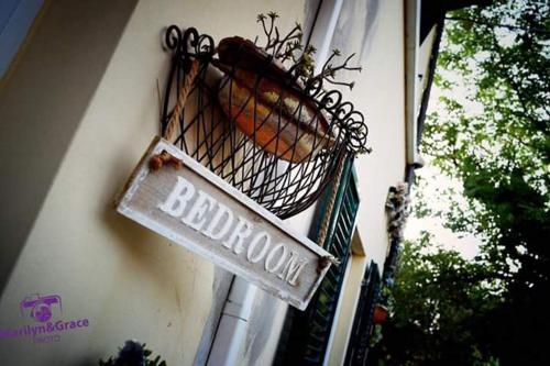
[[[208,366],[233,366],[241,358],[257,287],[234,277],[208,355]]]

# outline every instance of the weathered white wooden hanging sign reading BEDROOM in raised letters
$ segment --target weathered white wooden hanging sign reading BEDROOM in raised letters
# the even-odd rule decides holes
[[[300,310],[333,259],[161,137],[135,168],[117,210]]]

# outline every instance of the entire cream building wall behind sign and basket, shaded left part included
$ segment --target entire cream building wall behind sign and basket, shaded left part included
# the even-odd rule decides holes
[[[53,344],[1,339],[0,356],[6,364],[96,364],[125,340],[136,339],[168,364],[189,365],[205,329],[215,328],[208,322],[217,301],[213,291],[219,290],[213,266],[120,217],[111,204],[158,131],[156,80],[163,84],[169,63],[161,48],[162,30],[175,23],[215,40],[234,34],[254,38],[257,13],[275,10],[280,27],[289,29],[306,19],[306,0],[134,0],[119,8],[98,1],[94,9],[69,3],[47,5],[0,95],[6,107],[0,109],[2,152],[18,148],[7,137],[18,133],[30,136],[32,147],[32,154],[9,166],[12,197],[6,207],[28,212],[21,213],[24,225],[18,223],[16,237],[24,245],[0,300],[0,328],[32,323],[19,306],[36,292],[59,295],[59,319],[87,318],[90,326],[63,332]],[[373,153],[356,160],[362,197],[358,233],[366,257],[353,257],[330,365],[343,359],[366,263],[373,258],[383,266],[386,193],[405,169],[403,1],[370,0],[365,7],[369,12],[360,21],[350,18],[353,12],[344,14],[334,38],[343,54],[361,49],[364,69],[349,75],[355,88],[346,98],[365,113]],[[365,26],[364,32],[350,31],[352,25]],[[54,42],[58,40],[65,43]],[[47,67],[41,67],[41,57]],[[6,127],[8,119],[26,130]],[[58,164],[33,163],[41,159]],[[310,218],[306,212],[288,223],[307,233]],[[266,293],[257,296],[243,364],[271,363],[286,309]]]

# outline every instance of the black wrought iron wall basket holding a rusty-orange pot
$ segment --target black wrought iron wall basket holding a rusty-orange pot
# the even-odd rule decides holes
[[[240,37],[172,25],[162,130],[186,154],[282,219],[312,204],[350,155],[363,152],[363,114]],[[183,101],[183,106],[182,106]],[[178,106],[179,103],[179,106]]]

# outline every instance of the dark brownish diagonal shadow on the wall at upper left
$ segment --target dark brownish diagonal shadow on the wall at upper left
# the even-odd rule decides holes
[[[0,290],[138,0],[47,1],[0,90]]]

